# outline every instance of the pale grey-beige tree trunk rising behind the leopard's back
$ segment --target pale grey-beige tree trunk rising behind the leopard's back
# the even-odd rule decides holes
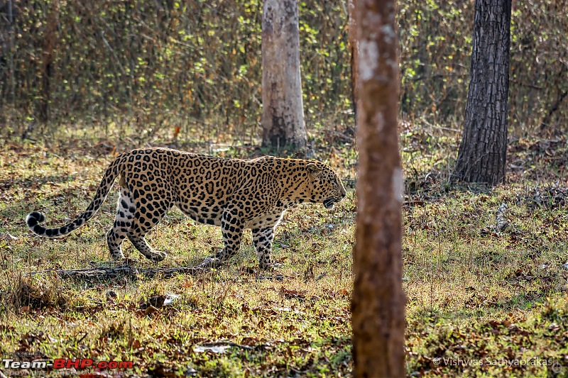
[[[264,147],[306,145],[297,0],[265,0],[262,18]]]

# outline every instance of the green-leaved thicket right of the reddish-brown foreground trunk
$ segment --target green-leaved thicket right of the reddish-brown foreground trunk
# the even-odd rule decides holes
[[[473,33],[468,1],[400,1],[401,106],[411,118],[463,119]],[[513,1],[509,122],[524,135],[545,121],[565,130],[568,101],[568,1]],[[552,116],[548,117],[550,112]]]

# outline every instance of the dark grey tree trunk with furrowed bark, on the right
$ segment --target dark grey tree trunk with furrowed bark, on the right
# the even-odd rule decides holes
[[[505,179],[511,0],[476,0],[464,135],[454,179]]]

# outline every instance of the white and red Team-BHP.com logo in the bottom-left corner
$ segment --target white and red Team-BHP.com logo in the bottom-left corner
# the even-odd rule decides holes
[[[55,360],[18,361],[4,358],[5,369],[132,369],[132,361],[94,361],[90,358],[56,358]]]

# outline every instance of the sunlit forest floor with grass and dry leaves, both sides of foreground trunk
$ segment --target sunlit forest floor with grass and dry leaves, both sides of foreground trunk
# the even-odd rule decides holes
[[[457,135],[423,127],[401,135],[408,375],[568,376],[567,141],[513,140],[507,182],[491,190],[448,183]],[[50,226],[72,220],[89,204],[116,152],[140,144],[113,145],[84,135],[43,143],[4,141],[0,372],[349,376],[356,152],[344,133],[319,138],[317,157],[345,179],[348,196],[332,211],[306,204],[286,213],[275,234],[274,255],[283,264],[277,272],[258,270],[246,231],[241,253],[228,265],[168,279],[30,274],[114,266],[104,233],[114,218],[116,187],[97,216],[64,238],[36,237],[25,218],[37,210]],[[263,154],[252,147],[180,148],[227,157]],[[136,267],[191,266],[222,246],[219,228],[196,224],[177,210],[148,242],[169,255],[154,264],[125,242],[124,252]],[[132,362],[132,367],[47,372],[6,367],[6,359],[38,358]]]

